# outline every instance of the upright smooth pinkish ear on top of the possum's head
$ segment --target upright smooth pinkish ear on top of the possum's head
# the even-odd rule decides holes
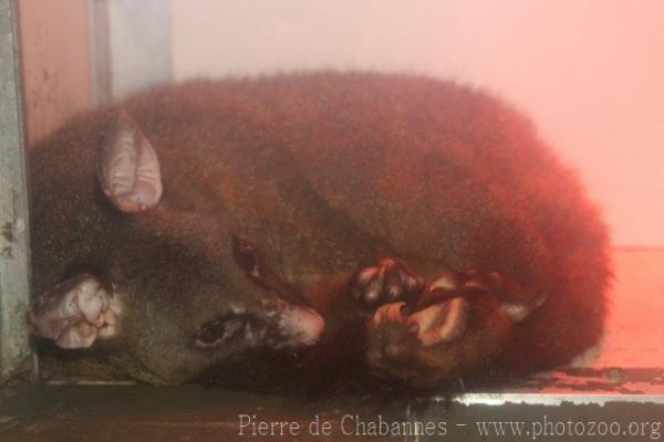
[[[102,190],[123,212],[151,209],[162,199],[162,175],[155,149],[124,110],[106,123],[97,146]]]

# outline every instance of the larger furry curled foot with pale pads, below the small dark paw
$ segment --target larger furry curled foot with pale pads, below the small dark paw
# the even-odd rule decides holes
[[[376,308],[367,323],[367,367],[416,388],[454,381],[504,351],[543,303],[497,272],[443,273],[416,302]]]

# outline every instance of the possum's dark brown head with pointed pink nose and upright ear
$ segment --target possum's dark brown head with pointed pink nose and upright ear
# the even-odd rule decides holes
[[[87,233],[97,236],[86,248],[102,255],[98,285],[122,305],[115,333],[105,337],[122,340],[148,376],[167,382],[247,352],[315,344],[323,319],[270,280],[260,250],[224,209],[181,204],[169,180],[163,191],[155,147],[124,112],[113,114],[97,145],[103,196],[95,210],[108,222]],[[55,341],[92,345],[70,332],[72,341]]]

